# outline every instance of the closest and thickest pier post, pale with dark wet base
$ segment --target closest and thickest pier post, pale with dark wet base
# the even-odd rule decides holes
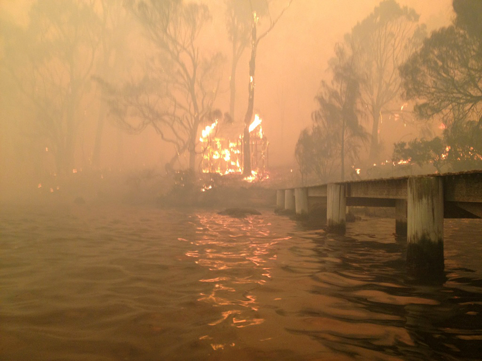
[[[441,177],[407,182],[407,266],[426,276],[443,271],[443,183]],[[430,271],[427,273],[426,271]],[[431,273],[433,272],[433,273]]]

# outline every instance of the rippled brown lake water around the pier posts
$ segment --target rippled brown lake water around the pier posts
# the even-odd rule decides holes
[[[0,360],[480,360],[481,220],[445,220],[434,285],[394,227],[3,206]]]

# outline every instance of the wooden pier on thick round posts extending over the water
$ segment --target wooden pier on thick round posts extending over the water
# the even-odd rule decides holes
[[[308,214],[326,205],[326,230],[345,233],[347,206],[395,207],[407,266],[443,271],[443,219],[482,218],[482,170],[346,181],[277,191],[277,208]]]

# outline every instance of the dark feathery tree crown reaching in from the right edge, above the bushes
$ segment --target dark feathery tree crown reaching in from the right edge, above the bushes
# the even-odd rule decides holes
[[[464,22],[464,15],[457,13],[456,25],[433,31],[401,67],[404,96],[416,101],[416,114],[440,116],[446,127],[464,120],[482,123],[481,5],[465,3],[478,21]]]

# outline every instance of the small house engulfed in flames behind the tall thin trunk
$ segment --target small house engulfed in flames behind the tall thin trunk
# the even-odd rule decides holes
[[[268,140],[263,133],[262,120],[259,115],[249,126],[251,166],[253,176],[251,180],[266,178],[268,168]],[[242,173],[243,123],[221,122],[215,120],[201,132],[202,147],[201,170],[203,173],[217,173],[221,175]]]

